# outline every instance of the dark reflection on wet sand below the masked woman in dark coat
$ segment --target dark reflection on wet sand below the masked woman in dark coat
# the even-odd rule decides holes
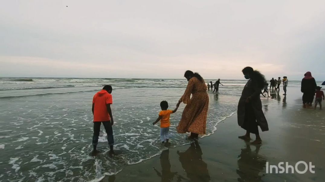
[[[253,152],[251,146],[246,144],[246,147],[241,149],[241,153],[238,156],[238,169],[236,170],[239,178],[239,182],[259,182],[262,180],[260,172],[264,172],[266,167],[266,160],[258,155],[261,145],[256,145],[256,149]]]

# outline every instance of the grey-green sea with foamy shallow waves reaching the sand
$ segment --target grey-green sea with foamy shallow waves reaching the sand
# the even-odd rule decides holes
[[[219,122],[236,112],[246,80],[221,83],[219,94],[208,91],[202,137],[213,134]],[[105,84],[113,87],[113,131],[119,153],[113,158],[107,155],[103,126],[98,143],[103,153],[89,155],[92,98]],[[186,85],[186,79],[0,78],[0,181],[98,181],[159,155],[166,147],[159,140],[159,125],[152,122],[160,102],[166,100],[174,109]],[[289,80],[288,94],[290,87],[300,87],[300,81]],[[184,106],[171,115],[171,147],[190,143],[175,129]]]

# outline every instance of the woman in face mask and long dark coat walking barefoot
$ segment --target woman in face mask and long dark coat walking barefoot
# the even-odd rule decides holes
[[[238,102],[237,119],[238,125],[246,130],[246,134],[238,138],[251,140],[250,133],[256,135],[252,144],[261,144],[262,140],[258,132],[258,126],[262,131],[268,131],[266,118],[262,110],[260,99],[261,90],[264,88],[265,77],[252,67],[245,67],[242,70],[245,79],[249,79],[241,93]]]

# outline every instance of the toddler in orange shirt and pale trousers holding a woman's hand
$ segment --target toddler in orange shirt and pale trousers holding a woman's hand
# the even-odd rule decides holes
[[[162,108],[162,111],[160,111],[158,118],[156,119],[155,122],[152,124],[155,125],[160,121],[160,140],[162,143],[166,141],[168,143],[169,140],[169,126],[170,126],[170,114],[175,113],[179,107],[180,103],[177,103],[176,108],[172,110],[167,110],[168,109],[168,102],[167,101],[162,101],[160,103],[160,107]]]

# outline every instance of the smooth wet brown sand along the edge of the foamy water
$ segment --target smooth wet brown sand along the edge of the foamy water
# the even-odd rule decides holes
[[[260,130],[262,145],[238,139],[245,130],[234,114],[219,123],[213,135],[170,148],[102,181],[324,181],[325,110],[302,108],[299,88],[288,88],[286,97],[282,93],[262,100],[269,124],[269,131]],[[312,162],[315,174],[266,174],[266,162],[298,161]]]

